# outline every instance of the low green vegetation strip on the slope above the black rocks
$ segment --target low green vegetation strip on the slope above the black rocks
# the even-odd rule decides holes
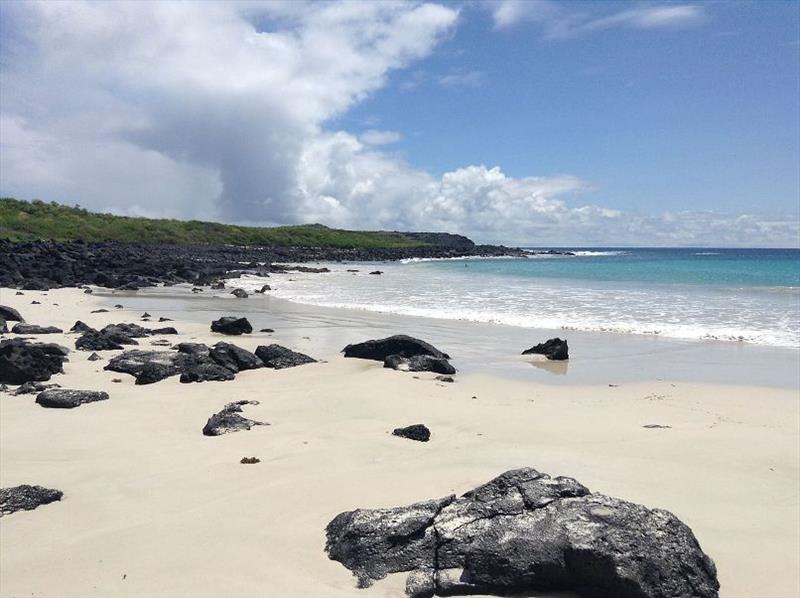
[[[198,220],[129,218],[97,214],[79,206],[12,198],[0,198],[0,239],[359,249],[427,245],[421,239],[396,232],[337,230],[321,224],[257,228]]]

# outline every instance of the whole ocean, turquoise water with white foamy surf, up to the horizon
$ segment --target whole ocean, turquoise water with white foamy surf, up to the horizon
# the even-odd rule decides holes
[[[561,249],[575,255],[336,263],[240,282],[310,305],[800,348],[800,250]]]

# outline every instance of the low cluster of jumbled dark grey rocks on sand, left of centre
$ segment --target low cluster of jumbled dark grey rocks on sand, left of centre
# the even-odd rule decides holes
[[[236,345],[218,342],[209,347],[202,343],[178,343],[175,351],[133,349],[111,358],[106,370],[130,374],[136,384],[152,384],[171,376],[180,381],[207,382],[233,380],[241,371],[257,368],[284,369],[316,360],[280,345],[261,345],[250,352]]]

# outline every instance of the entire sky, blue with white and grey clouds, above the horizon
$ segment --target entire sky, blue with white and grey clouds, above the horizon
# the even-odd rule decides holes
[[[800,3],[1,2],[0,194],[800,246]]]

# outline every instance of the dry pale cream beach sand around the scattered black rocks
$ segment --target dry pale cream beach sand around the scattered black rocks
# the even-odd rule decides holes
[[[2,289],[0,303],[65,330],[139,316],[90,315],[98,299],[66,289]],[[181,340],[222,338],[205,325],[150,325],[175,325]],[[74,338],[41,337],[70,347]],[[281,334],[225,340],[254,349]],[[88,355],[73,351],[52,381],[105,390],[108,401],[54,410],[33,395],[0,395],[0,485],[65,494],[0,520],[4,597],[396,596],[404,576],[355,589],[325,555],[326,524],[343,510],[461,493],[523,466],[672,511],[715,560],[722,596],[800,594],[797,389],[555,387],[463,372],[442,384],[336,355],[232,382],[135,386]],[[201,434],[241,399],[260,401],[244,414],[271,425]],[[431,441],[391,436],[412,423],[428,425]],[[244,456],[261,463],[241,465]]]

